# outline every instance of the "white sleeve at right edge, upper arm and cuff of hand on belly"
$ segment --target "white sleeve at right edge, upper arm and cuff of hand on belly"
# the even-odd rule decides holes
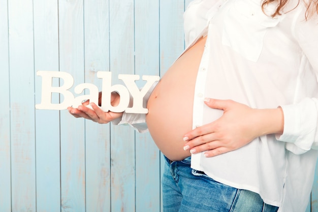
[[[300,10],[294,22],[294,36],[311,69],[318,77],[318,15],[305,20],[305,9]],[[318,150],[318,99],[305,98],[297,104],[281,106],[284,114],[284,131],[278,140],[286,142],[285,148],[295,154],[310,149]]]

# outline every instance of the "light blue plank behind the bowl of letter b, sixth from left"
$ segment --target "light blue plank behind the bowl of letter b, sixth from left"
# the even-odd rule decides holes
[[[110,71],[134,74],[134,0],[110,1]],[[135,210],[135,132],[111,125],[111,211]]]

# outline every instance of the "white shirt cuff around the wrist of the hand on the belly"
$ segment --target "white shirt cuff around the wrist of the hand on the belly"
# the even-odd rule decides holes
[[[276,139],[286,142],[285,148],[294,154],[303,154],[314,144],[317,128],[317,107],[315,99],[305,98],[298,104],[282,105],[284,130]]]

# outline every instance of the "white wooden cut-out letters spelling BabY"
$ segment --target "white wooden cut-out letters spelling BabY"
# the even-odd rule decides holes
[[[73,93],[69,89],[74,84],[72,75],[66,72],[39,70],[38,76],[42,77],[42,95],[41,103],[36,104],[36,109],[47,110],[65,110],[71,105],[73,108],[77,108],[82,104],[82,101],[89,99],[90,102],[99,102],[99,90],[96,85],[91,83],[82,83],[74,88],[76,94],[81,94],[84,89],[89,90],[89,94],[74,97]],[[143,97],[150,89],[152,84],[159,81],[158,76],[142,76],[142,80],[147,81],[144,87],[139,90],[135,81],[139,80],[139,75],[118,75],[118,79],[122,80],[123,85],[111,85],[111,72],[98,72],[97,77],[102,79],[102,105],[101,109],[105,112],[112,111],[120,113],[125,111],[126,113],[148,113],[148,109],[143,108]],[[64,84],[60,87],[52,87],[53,78],[61,78]],[[120,95],[120,102],[116,107],[113,107],[110,103],[111,92],[116,91]],[[60,103],[52,103],[52,93],[60,93],[64,96],[64,100]],[[130,102],[130,95],[133,97],[133,107],[128,108]],[[90,105],[87,105],[90,107]]]

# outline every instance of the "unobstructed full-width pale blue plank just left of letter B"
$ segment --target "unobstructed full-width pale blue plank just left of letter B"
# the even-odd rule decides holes
[[[36,210],[33,1],[8,2],[12,210]]]

